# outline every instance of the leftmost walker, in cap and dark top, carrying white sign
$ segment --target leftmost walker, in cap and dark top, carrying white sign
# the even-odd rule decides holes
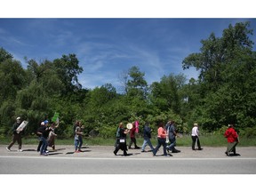
[[[7,151],[11,151],[11,148],[13,144],[17,141],[19,145],[18,151],[22,152],[21,146],[22,146],[22,140],[21,140],[21,132],[16,132],[17,128],[21,124],[21,118],[20,116],[16,118],[16,122],[12,125],[12,142],[9,144],[9,146],[6,148]]]

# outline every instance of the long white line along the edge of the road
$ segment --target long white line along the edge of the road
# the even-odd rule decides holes
[[[226,157],[226,158],[172,158],[171,157],[148,157],[148,158],[130,158],[130,157],[66,157],[66,156],[0,156],[0,158],[31,158],[31,159],[72,159],[72,160],[124,160],[124,161],[205,161],[205,160],[256,160],[256,157]]]

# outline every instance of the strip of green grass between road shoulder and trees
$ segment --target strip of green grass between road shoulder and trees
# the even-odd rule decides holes
[[[12,140],[12,136],[9,137],[1,137],[0,138],[0,145],[8,145]],[[103,139],[99,137],[95,138],[84,138],[84,145],[89,146],[95,146],[95,145],[101,145],[101,146],[114,146],[115,144],[115,138],[112,139]],[[143,138],[137,138],[137,145],[141,146],[143,143]],[[127,139],[127,144],[129,144],[130,139]],[[157,140],[156,137],[151,139],[151,142],[153,146],[156,146]],[[177,146],[182,147],[190,147],[192,140],[191,137],[188,135],[184,135],[183,137],[178,137],[177,140]],[[202,147],[224,147],[227,146],[227,139],[224,138],[221,135],[202,135],[200,136],[200,142]],[[56,145],[74,145],[74,139],[60,139],[57,138],[55,140]],[[38,140],[36,137],[24,137],[22,138],[22,145],[37,145]],[[240,138],[239,146],[241,147],[249,147],[249,146],[256,146],[256,140],[255,138]]]

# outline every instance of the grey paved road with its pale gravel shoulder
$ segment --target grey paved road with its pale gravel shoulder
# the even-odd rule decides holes
[[[57,146],[49,156],[39,156],[36,146],[16,146],[8,152],[0,146],[1,174],[256,174],[256,148],[239,148],[241,156],[226,156],[226,148],[204,148],[192,151],[180,147],[178,154],[165,157],[163,148],[156,156],[130,149],[130,156],[113,154],[114,147],[88,146],[82,153],[74,153],[73,146]]]

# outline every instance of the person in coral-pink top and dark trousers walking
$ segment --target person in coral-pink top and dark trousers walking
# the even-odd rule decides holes
[[[157,146],[153,150],[153,156],[156,156],[156,153],[161,146],[163,146],[163,149],[164,149],[164,156],[168,156],[166,152],[166,145],[167,145],[166,136],[167,136],[167,133],[166,133],[164,124],[160,123],[157,129]]]

